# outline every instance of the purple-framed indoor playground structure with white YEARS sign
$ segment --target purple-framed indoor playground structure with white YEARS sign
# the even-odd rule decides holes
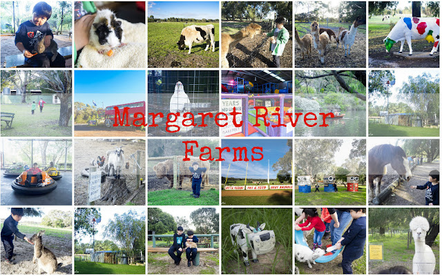
[[[228,136],[245,136],[249,137],[253,133],[258,132],[259,135],[265,137],[291,137],[293,136],[293,127],[287,113],[292,112],[292,95],[291,94],[276,94],[276,95],[247,95],[247,94],[228,94],[222,93],[221,99],[240,99],[242,110],[242,130]],[[265,126],[262,118],[258,119],[260,126],[253,126],[256,123],[255,106],[265,106],[267,108],[267,122],[269,126]],[[271,115],[276,112],[276,107],[279,107],[279,117],[286,126],[273,127],[278,125],[278,116]],[[265,112],[262,110],[262,112]],[[264,114],[264,113],[262,113]],[[282,119],[283,118],[283,119]]]

